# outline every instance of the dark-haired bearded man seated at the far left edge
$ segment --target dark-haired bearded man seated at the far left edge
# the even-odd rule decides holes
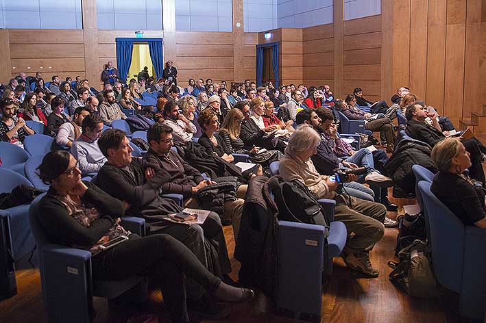
[[[23,118],[14,120],[15,105],[11,99],[1,99],[0,108],[0,140],[23,148],[23,140],[27,135],[33,135],[34,130],[25,125]]]

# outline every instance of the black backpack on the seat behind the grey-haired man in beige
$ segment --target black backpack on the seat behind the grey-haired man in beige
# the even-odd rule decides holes
[[[324,209],[311,191],[300,181],[281,181],[273,177],[271,190],[278,208],[278,219],[291,222],[319,224],[326,228],[324,237],[329,235],[329,224]]]

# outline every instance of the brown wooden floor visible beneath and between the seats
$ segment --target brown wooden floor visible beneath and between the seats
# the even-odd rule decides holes
[[[394,218],[395,214],[389,212],[389,217]],[[225,227],[224,231],[232,259],[232,229]],[[439,297],[433,300],[412,299],[389,282],[387,262],[393,259],[397,233],[397,229],[386,229],[385,236],[371,253],[372,263],[380,270],[377,279],[354,279],[352,271],[345,267],[342,259],[335,260],[334,273],[322,296],[322,322],[460,322],[457,295],[441,291]],[[236,279],[239,263],[234,259],[232,268],[232,276]],[[18,294],[0,302],[0,322],[47,322],[42,307],[39,271],[18,270],[16,279]],[[102,298],[95,298],[95,306],[98,312],[96,322],[127,322],[132,316],[156,313],[160,307],[163,308],[160,292],[153,292],[149,300],[139,307],[108,304]],[[191,319],[192,322],[211,322]],[[249,304],[234,306],[229,318],[215,322],[301,321],[272,314],[265,298],[258,295]]]

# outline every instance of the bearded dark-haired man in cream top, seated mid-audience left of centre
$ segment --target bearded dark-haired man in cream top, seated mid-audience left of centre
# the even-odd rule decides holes
[[[169,100],[165,103],[164,119],[162,123],[172,128],[176,142],[189,142],[197,132],[193,122],[187,120],[184,114],[179,113],[179,107],[175,101]]]

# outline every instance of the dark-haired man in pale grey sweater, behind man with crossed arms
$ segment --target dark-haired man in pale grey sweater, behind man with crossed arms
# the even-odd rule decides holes
[[[98,172],[106,162],[106,157],[98,146],[98,138],[103,132],[103,120],[97,114],[85,116],[81,122],[82,133],[71,145],[71,154],[77,160],[82,175]]]

